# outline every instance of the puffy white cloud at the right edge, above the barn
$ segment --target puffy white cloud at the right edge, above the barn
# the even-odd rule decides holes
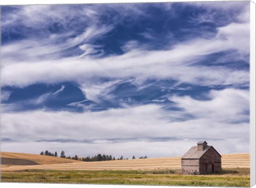
[[[212,90],[205,97],[210,100],[196,100],[189,96],[173,96],[169,99],[196,118],[217,118],[219,122],[249,120],[249,91],[238,89]]]

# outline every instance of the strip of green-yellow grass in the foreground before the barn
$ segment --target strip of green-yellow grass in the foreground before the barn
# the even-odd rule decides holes
[[[250,169],[214,175],[181,175],[180,170],[19,170],[2,172],[1,182],[250,187]]]

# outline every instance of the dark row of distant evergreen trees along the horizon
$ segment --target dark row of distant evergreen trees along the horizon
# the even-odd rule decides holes
[[[53,152],[49,152],[48,150],[46,150],[45,152],[41,152],[40,155],[45,155],[45,156],[53,156],[53,157],[58,157],[58,153],[57,151],[55,151],[54,153]],[[119,158],[115,158],[115,157],[112,157],[111,155],[101,155],[100,153],[98,155],[95,155],[95,156],[87,156],[87,157],[80,157],[78,158],[77,155],[75,155],[74,157],[66,157],[65,156],[65,152],[64,151],[61,151],[60,153],[60,157],[61,158],[67,158],[67,159],[73,159],[73,160],[82,160],[82,161],[87,161],[87,162],[90,162],[90,161],[105,161],[105,160],[127,160],[129,158],[124,158],[123,156],[119,157]],[[139,159],[147,159],[148,157],[145,156],[145,157],[139,157]],[[136,159],[135,156],[132,156],[132,159]]]

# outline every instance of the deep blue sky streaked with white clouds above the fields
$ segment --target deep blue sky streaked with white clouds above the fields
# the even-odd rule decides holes
[[[249,152],[250,1],[1,6],[1,151]]]

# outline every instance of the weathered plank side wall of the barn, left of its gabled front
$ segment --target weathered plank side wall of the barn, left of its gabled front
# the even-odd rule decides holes
[[[199,174],[199,159],[181,159],[182,174]]]

